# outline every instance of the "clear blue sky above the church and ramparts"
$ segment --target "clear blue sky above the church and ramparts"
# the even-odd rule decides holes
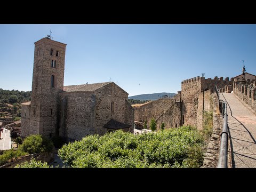
[[[185,79],[256,74],[256,25],[1,25],[0,88],[30,91],[34,42],[67,44],[64,85],[115,82],[129,96],[181,90]]]

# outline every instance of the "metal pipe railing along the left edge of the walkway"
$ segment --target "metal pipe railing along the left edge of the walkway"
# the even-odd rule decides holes
[[[220,141],[220,154],[217,168],[228,168],[228,113],[227,102],[220,99],[220,94],[215,86],[215,92],[219,100],[219,109],[223,117],[223,127]]]

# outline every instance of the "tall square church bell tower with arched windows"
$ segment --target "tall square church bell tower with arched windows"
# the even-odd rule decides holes
[[[51,36],[35,42],[29,134],[59,134],[59,93],[63,91],[66,44]]]

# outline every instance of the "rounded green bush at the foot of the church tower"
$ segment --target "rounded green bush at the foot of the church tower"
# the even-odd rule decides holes
[[[42,137],[40,134],[29,135],[19,148],[29,154],[51,152],[53,150],[53,142],[50,139]]]

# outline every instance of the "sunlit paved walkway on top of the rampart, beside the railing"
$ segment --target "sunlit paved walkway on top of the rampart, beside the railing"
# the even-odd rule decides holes
[[[233,93],[220,93],[228,102],[228,127],[233,168],[256,167],[256,115]]]

